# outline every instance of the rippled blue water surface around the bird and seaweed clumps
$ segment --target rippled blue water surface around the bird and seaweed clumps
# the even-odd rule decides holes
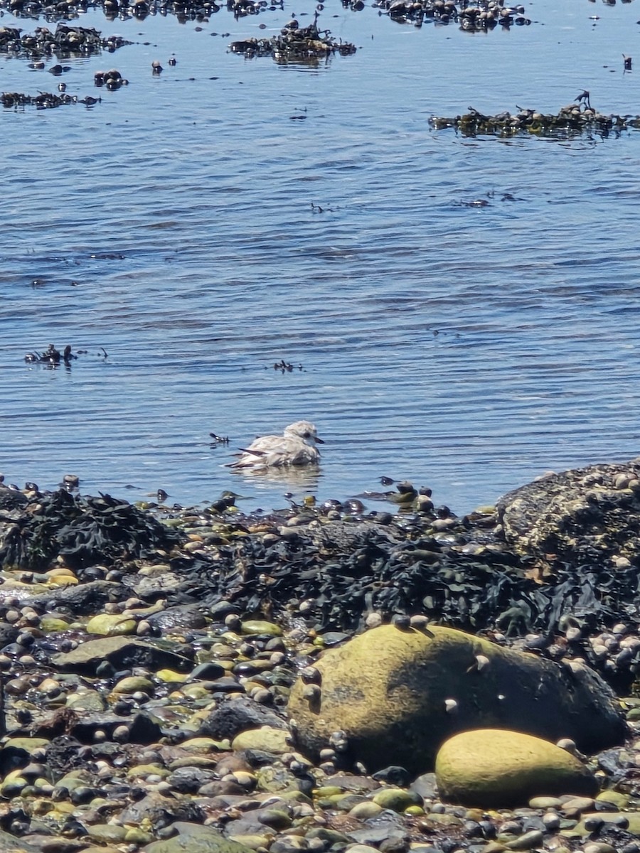
[[[228,52],[313,10],[92,11],[76,23],[135,43],[67,61],[67,91],[102,102],[0,112],[8,481],[73,472],[87,492],[190,503],[233,489],[248,510],[387,475],[465,512],[550,468],[637,456],[640,133],[470,139],[428,118],[556,112],[584,89],[640,112],[640,53],[637,71],[622,60],[640,7],[534,0],[529,26],[474,35],[329,0],[319,26],[355,55]],[[0,90],[54,91],[27,63],[0,55]],[[105,67],[129,86],[96,90]],[[49,342],[88,352],[25,363]],[[224,467],[302,417],[326,442],[318,474]]]

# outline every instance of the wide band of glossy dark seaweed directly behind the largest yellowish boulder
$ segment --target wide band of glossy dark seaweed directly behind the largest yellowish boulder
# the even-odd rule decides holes
[[[193,566],[206,583],[201,595],[227,598],[247,612],[282,614],[307,601],[316,630],[360,630],[368,612],[425,613],[464,630],[497,629],[510,636],[556,630],[571,614],[595,627],[637,620],[640,567],[609,572],[601,566],[559,567],[550,583],[537,583],[529,561],[496,542],[437,542],[396,525],[323,525],[265,545],[242,537]],[[311,606],[312,602],[312,606]]]

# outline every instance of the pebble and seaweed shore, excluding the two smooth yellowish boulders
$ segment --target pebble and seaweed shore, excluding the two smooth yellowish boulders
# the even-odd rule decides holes
[[[637,851],[639,477],[555,474],[462,518],[404,484],[394,512],[259,515],[3,487],[0,850]],[[629,734],[584,759],[601,792],[474,809],[433,769],[299,751],[300,674],[386,624],[602,677]]]

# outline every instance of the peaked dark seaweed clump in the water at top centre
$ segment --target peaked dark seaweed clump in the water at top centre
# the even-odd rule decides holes
[[[282,28],[279,36],[272,38],[245,38],[230,44],[232,53],[252,59],[254,56],[272,56],[276,62],[315,62],[334,54],[348,56],[356,52],[355,44],[331,37],[329,30],[320,30],[317,20],[309,26],[300,27],[291,20]]]

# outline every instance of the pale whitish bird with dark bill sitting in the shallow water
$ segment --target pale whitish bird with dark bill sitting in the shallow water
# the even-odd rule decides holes
[[[314,424],[309,421],[296,421],[285,428],[282,435],[263,435],[241,447],[239,458],[230,462],[230,468],[259,470],[261,468],[284,468],[300,465],[317,465],[320,451],[316,444],[324,444],[317,437]]]

